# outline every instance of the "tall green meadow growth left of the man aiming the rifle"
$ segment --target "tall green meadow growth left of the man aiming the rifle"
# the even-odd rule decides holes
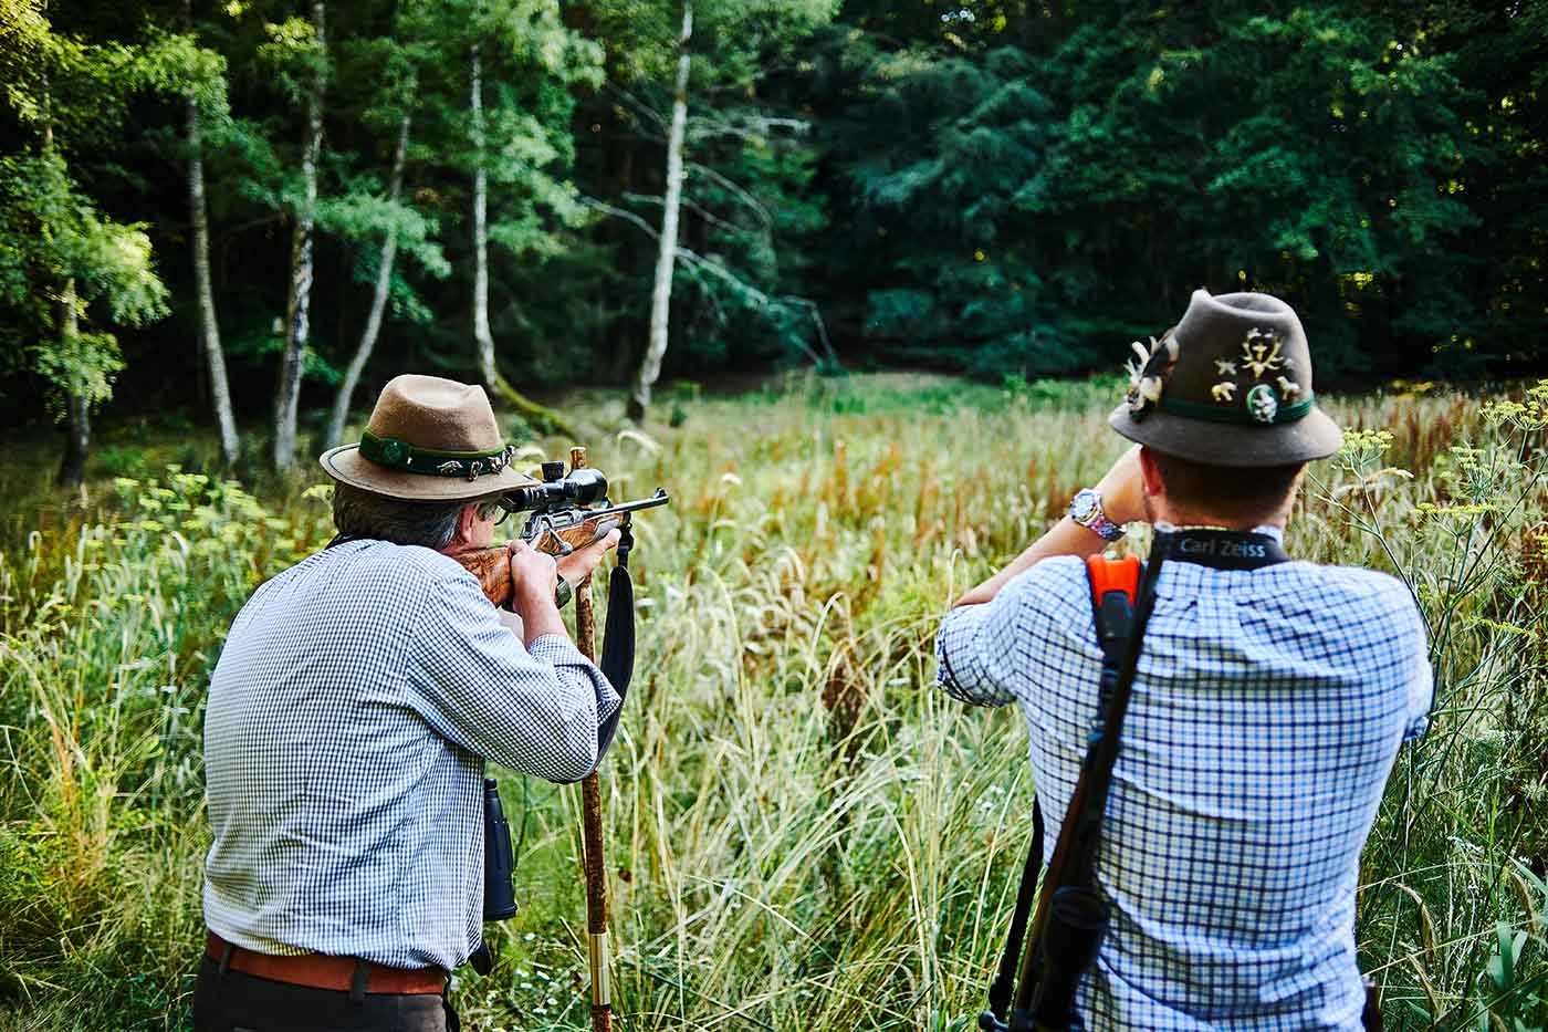
[[[0,1027],[183,1023],[203,679],[259,581],[322,544],[325,508],[279,518],[234,483],[166,474],[108,487],[101,522],[0,553]],[[105,979],[85,1010],[54,1007],[73,964]]]

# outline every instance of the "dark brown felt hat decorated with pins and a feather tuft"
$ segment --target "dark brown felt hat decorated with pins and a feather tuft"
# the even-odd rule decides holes
[[[1181,322],[1133,349],[1107,417],[1128,440],[1214,466],[1327,459],[1344,440],[1313,397],[1307,332],[1272,294],[1195,290]]]

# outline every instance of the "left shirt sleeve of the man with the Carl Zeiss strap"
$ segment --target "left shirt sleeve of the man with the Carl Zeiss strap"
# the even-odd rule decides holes
[[[935,635],[935,682],[946,694],[975,707],[1003,707],[1023,694],[1009,660],[1033,617],[1036,569],[1011,578],[991,601],[946,614]]]

